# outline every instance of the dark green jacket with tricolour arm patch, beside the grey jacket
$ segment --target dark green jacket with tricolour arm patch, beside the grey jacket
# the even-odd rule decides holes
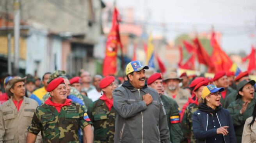
[[[169,98],[165,95],[161,95],[161,100],[164,104],[167,124],[170,130],[170,138],[172,143],[180,143],[182,133],[180,126],[180,115],[179,115],[179,106],[176,101],[172,98]]]

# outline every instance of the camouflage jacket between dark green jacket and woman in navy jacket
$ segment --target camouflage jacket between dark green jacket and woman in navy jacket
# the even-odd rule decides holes
[[[181,121],[181,131],[183,133],[183,138],[181,143],[188,143],[188,140],[190,141],[190,143],[196,143],[196,138],[193,134],[193,128],[192,128],[192,116],[197,109],[198,109],[198,106],[194,103],[191,103],[185,109],[185,112]]]

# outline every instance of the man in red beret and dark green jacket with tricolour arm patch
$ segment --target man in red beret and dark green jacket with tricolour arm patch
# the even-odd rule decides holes
[[[155,73],[148,78],[148,86],[155,89],[164,104],[167,123],[170,130],[170,137],[172,143],[180,143],[182,132],[180,126],[180,115],[179,115],[179,106],[174,101],[165,95],[162,94],[163,92],[163,80],[161,73]]]

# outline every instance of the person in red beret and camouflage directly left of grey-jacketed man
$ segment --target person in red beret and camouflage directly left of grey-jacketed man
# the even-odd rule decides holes
[[[94,127],[94,143],[114,143],[116,110],[113,107],[112,91],[116,87],[115,77],[101,79],[103,95],[89,106],[88,115]]]

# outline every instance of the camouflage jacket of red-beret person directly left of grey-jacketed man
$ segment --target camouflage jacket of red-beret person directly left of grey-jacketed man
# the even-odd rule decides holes
[[[109,111],[105,101],[98,99],[88,109],[94,127],[94,143],[114,143],[116,110]]]

